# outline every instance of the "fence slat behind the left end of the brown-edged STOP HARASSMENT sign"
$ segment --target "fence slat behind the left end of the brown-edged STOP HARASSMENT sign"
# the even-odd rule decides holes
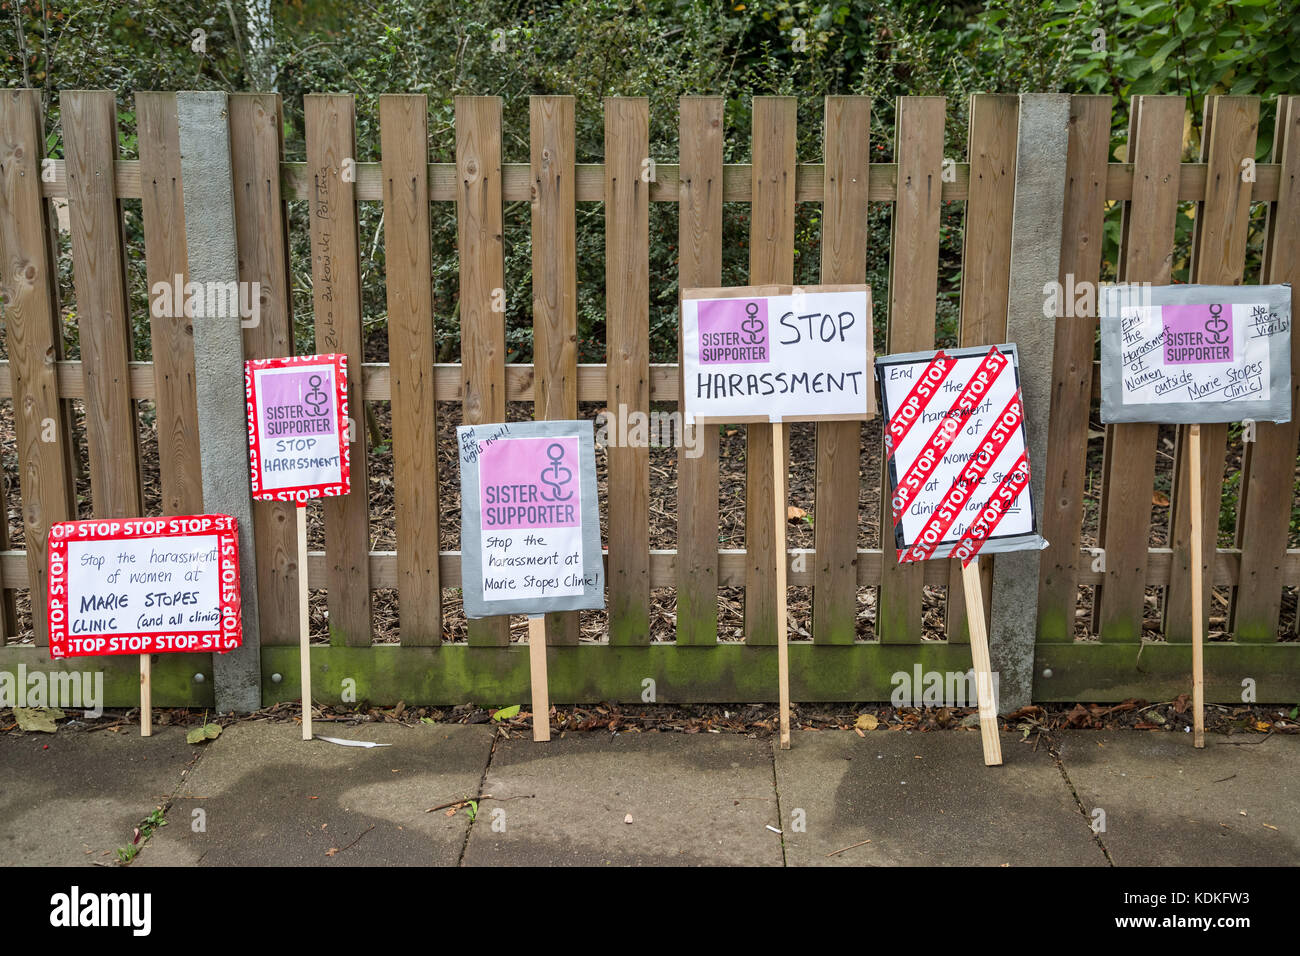
[[[723,282],[723,103],[722,96],[682,96],[679,108],[679,290]],[[681,350],[679,323],[679,356]],[[682,410],[680,401],[677,408]],[[677,583],[677,643],[716,644],[718,428],[684,425],[684,431],[677,451],[677,562],[684,570]],[[689,447],[698,454],[688,455]]]

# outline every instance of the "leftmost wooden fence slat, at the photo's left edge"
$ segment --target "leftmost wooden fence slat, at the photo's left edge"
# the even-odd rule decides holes
[[[52,356],[62,354],[49,207],[40,195],[46,155],[40,94],[0,94],[0,290],[13,378],[13,421],[22,494],[22,527],[38,645],[46,622],[46,538],[49,525],[75,514],[68,467],[70,434],[58,401]]]

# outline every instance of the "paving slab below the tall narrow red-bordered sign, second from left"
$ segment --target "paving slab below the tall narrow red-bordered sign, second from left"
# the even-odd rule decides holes
[[[316,731],[391,747],[307,741],[282,723],[228,727],[205,745],[169,826],[133,865],[456,865],[468,817],[425,810],[478,793],[490,728],[377,723]],[[332,848],[338,852],[329,855]]]

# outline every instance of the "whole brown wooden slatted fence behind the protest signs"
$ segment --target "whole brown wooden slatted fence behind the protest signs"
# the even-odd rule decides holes
[[[130,316],[120,200],[142,200],[148,281],[186,273],[181,147],[174,94],[138,94],[136,159],[118,148],[109,92],[61,98],[64,159],[44,160],[35,91],[0,98],[0,256],[8,362],[0,398],[12,399],[26,550],[12,550],[0,523],[4,609],[0,669],[75,670],[103,666],[110,704],[135,700],[134,659],[49,662],[44,653],[46,533],[75,514],[78,432],[73,402],[84,408],[92,509],[96,516],[142,510],[135,403],[155,403],[161,497],[166,512],[203,509],[192,328],[185,319],[151,320],[151,363],[131,362]],[[650,155],[645,99],[604,105],[604,163],[575,161],[575,104],[533,98],[530,161],[502,161],[502,103],[458,98],[456,161],[429,164],[425,96],[380,100],[382,163],[352,163],[355,114],[350,96],[306,100],[306,163],[283,160],[278,96],[229,99],[239,280],[260,284],[261,320],[244,332],[247,358],[292,347],[286,203],[311,212],[312,304],[316,347],[347,352],[354,407],[391,402],[395,455],[395,551],[372,551],[365,429],[358,429],[354,476],[360,493],[325,506],[326,546],[308,557],[312,588],[328,592],[330,644],[313,648],[317,697],[339,700],[341,679],[376,702],[506,702],[528,687],[526,648],[511,645],[503,619],[473,622],[465,641],[443,640],[442,594],[459,583],[459,553],[438,551],[437,402],[463,405],[467,423],[506,416],[507,402],[532,402],[537,418],[573,418],[578,402],[649,411],[675,402],[679,369],[651,364],[647,333],[650,203],[677,203],[681,287],[722,281],[723,203],[750,203],[749,278],[794,278],[796,204],[820,203],[820,281],[862,282],[867,258],[889,255],[888,350],[935,345],[940,204],[966,204],[959,345],[988,345],[1006,333],[1018,99],[971,100],[968,155],[945,164],[941,98],[898,100],[893,163],[870,163],[866,98],[826,101],[824,161],[796,159],[796,103],[757,98],[753,157],[724,164],[720,98],[681,101],[677,164]],[[1243,177],[1256,156],[1261,105],[1247,96],[1209,98],[1199,163],[1180,163],[1187,103],[1178,96],[1135,100],[1127,161],[1113,161],[1109,96],[1074,96],[1061,247],[1062,281],[1101,277],[1106,209],[1123,204],[1118,277],[1169,282],[1179,203],[1195,208],[1192,281],[1295,282],[1300,278],[1300,96],[1277,109],[1271,160]],[[346,170],[346,172],[344,172]],[[946,170],[946,172],[945,172]],[[355,174],[354,174],[355,172]],[[55,273],[51,202],[66,199],[77,293],[81,360],[64,360]],[[504,286],[503,203],[532,207],[534,363],[507,364],[504,323],[494,307]],[[456,203],[460,265],[460,364],[436,364],[430,294],[430,203]],[[577,362],[575,209],[604,207],[607,284],[606,365]],[[390,362],[363,362],[358,203],[384,204]],[[892,248],[868,248],[867,206],[893,207]],[[1251,204],[1268,206],[1262,274],[1245,274]],[[662,277],[655,277],[659,281]],[[1046,321],[1046,320],[1045,320]],[[1300,352],[1297,352],[1300,354]],[[1035,462],[1046,476],[1041,502],[1035,698],[1170,698],[1190,687],[1187,481],[1174,475],[1170,546],[1148,546],[1157,459],[1154,425],[1106,429],[1096,548],[1082,546],[1089,412],[1096,401],[1096,319],[1057,320],[1052,367],[1049,451]],[[1300,371],[1300,369],[1297,369]],[[1294,380],[1300,376],[1294,373]],[[231,382],[240,388],[242,382]],[[1046,411],[1046,410],[1041,410]],[[970,649],[961,575],[948,562],[898,566],[890,536],[883,549],[858,541],[859,475],[855,423],[816,425],[815,548],[792,551],[789,583],[812,588],[811,639],[790,649],[794,700],[887,700],[890,675],[965,671]],[[1202,432],[1204,483],[1225,480],[1227,428]],[[718,548],[719,436],[702,429],[703,453],[679,455],[677,548],[650,549],[647,449],[608,449],[610,516],[607,641],[578,640],[573,614],[547,622],[550,679],[556,701],[642,700],[654,682],[660,701],[774,700],[776,693],[775,572],[764,555],[774,540],[771,441],[766,427],[748,434],[745,550]],[[1297,425],[1261,424],[1242,462],[1236,541],[1216,548],[1202,570],[1230,601],[1231,640],[1206,645],[1209,700],[1240,701],[1243,680],[1261,700],[1300,697],[1300,644],[1279,635],[1286,589],[1300,584],[1300,550],[1288,550],[1295,506]],[[1178,460],[1175,453],[1175,460]],[[1212,496],[1213,497],[1213,496]],[[1213,514],[1210,514],[1213,511]],[[292,698],[296,685],[295,523],[290,509],[254,509],[261,619],[263,700]],[[1217,498],[1208,533],[1218,527]],[[749,555],[755,559],[749,559]],[[944,635],[927,639],[923,589],[946,589]],[[396,588],[400,645],[372,645],[372,592]],[[676,641],[651,641],[651,588],[676,588]],[[744,641],[719,641],[719,588],[744,588]],[[1093,589],[1089,636],[1076,639],[1080,588]],[[1162,633],[1143,635],[1149,589],[1164,592]],[[30,589],[34,628],[16,631],[14,594]],[[862,640],[858,597],[876,589],[875,627]],[[1209,588],[1206,589],[1209,591]],[[1287,618],[1291,619],[1288,610]],[[997,622],[993,622],[997,630]],[[209,705],[212,665],[204,656],[162,656],[153,669],[160,705]],[[200,680],[196,675],[207,676]]]

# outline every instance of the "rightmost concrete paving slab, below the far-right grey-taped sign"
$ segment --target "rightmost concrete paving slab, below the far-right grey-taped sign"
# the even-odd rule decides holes
[[[1121,866],[1300,865],[1300,737],[1066,731],[1079,800]]]

